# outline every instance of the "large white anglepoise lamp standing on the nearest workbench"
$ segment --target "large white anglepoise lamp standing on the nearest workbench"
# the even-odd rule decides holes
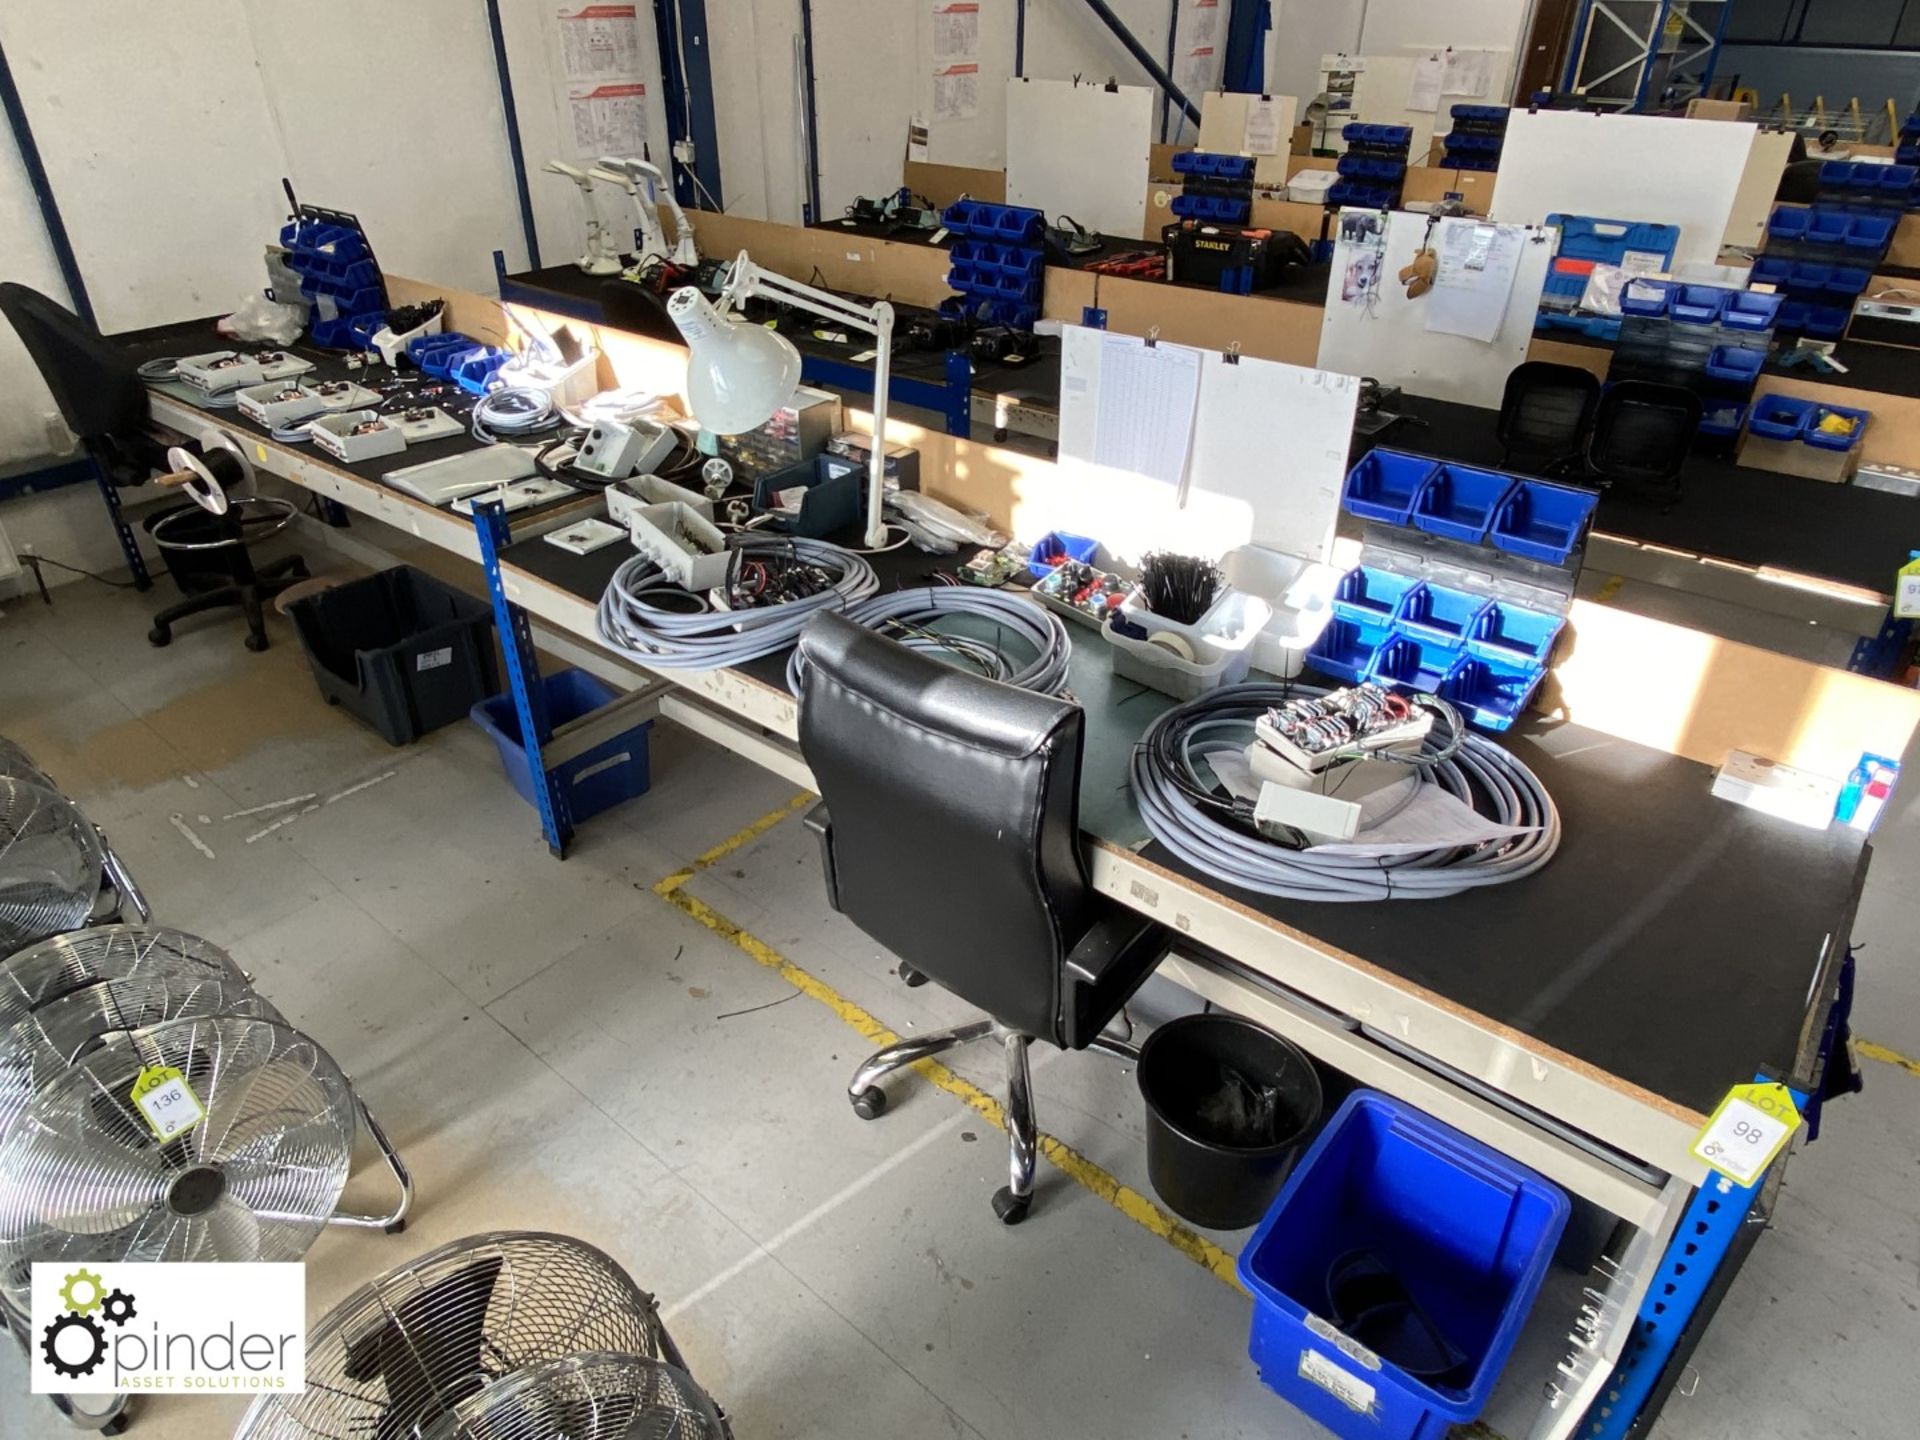
[[[881,511],[887,503],[887,376],[893,365],[893,305],[876,300],[856,305],[810,284],[762,271],[739,252],[716,309],[693,286],[682,286],[666,301],[666,313],[687,338],[687,403],[693,419],[722,436],[755,430],[774,419],[774,411],[793,399],[801,386],[801,351],[764,324],[747,324],[728,311],[770,296],[812,311],[837,324],[851,324],[874,336],[874,445],[868,461],[866,543],[887,543]]]

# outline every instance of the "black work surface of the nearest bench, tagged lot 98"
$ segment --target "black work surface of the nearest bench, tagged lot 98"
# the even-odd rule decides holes
[[[572,555],[526,540],[503,564],[597,601],[626,557],[618,545]],[[874,561],[883,589],[920,584],[939,564],[910,549]],[[1759,1068],[1793,1069],[1816,972],[1864,874],[1855,831],[1801,829],[1716,801],[1703,764],[1534,716],[1503,743],[1561,810],[1565,839],[1542,874],[1444,900],[1240,893],[1148,839],[1127,760],[1171,701],[1116,680],[1104,641],[1069,630],[1073,693],[1087,708],[1081,824],[1094,843],[1162,870],[1173,899],[1156,897],[1160,918],[1179,924],[1179,893],[1225,897],[1275,931],[1551,1046],[1674,1114],[1705,1116]],[[783,693],[785,659],[741,674]],[[1394,1039],[1394,1016],[1357,1020]]]

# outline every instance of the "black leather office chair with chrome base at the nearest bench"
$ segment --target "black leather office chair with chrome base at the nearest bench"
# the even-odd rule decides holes
[[[1165,954],[1165,931],[1096,895],[1079,847],[1085,716],[1069,701],[962,674],[837,614],[801,636],[801,753],[822,804],[833,908],[985,1020],[889,1044],[854,1071],[862,1119],[881,1077],[958,1044],[1006,1048],[1008,1225],[1033,1198],[1027,1046],[1139,1050],[1102,1031]]]

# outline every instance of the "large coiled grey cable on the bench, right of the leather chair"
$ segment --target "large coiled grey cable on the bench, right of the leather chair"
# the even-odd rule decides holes
[[[1390,856],[1294,851],[1252,828],[1252,806],[1223,801],[1190,770],[1190,741],[1252,724],[1319,685],[1227,685],[1162,714],[1133,751],[1129,781],[1154,839],[1202,874],[1260,895],[1288,900],[1434,900],[1482,885],[1532,876],[1559,849],[1561,820],[1538,776],[1475,732],[1459,751],[1421,770],[1421,783],[1450,795],[1501,826],[1532,826],[1524,835],[1476,847],[1413,851]],[[1428,743],[1434,743],[1432,737]],[[1356,837],[1365,843],[1365,833]]]

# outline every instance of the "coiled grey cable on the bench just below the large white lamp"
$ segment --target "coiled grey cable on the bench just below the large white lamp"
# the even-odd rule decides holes
[[[718,609],[674,586],[645,555],[614,570],[601,593],[595,628],[622,655],[655,670],[720,670],[778,655],[801,637],[820,611],[845,611],[879,589],[874,566],[824,540],[745,536],[732,545],[743,563],[797,561],[833,576],[801,599],[749,609]],[[697,609],[695,609],[697,607]]]

